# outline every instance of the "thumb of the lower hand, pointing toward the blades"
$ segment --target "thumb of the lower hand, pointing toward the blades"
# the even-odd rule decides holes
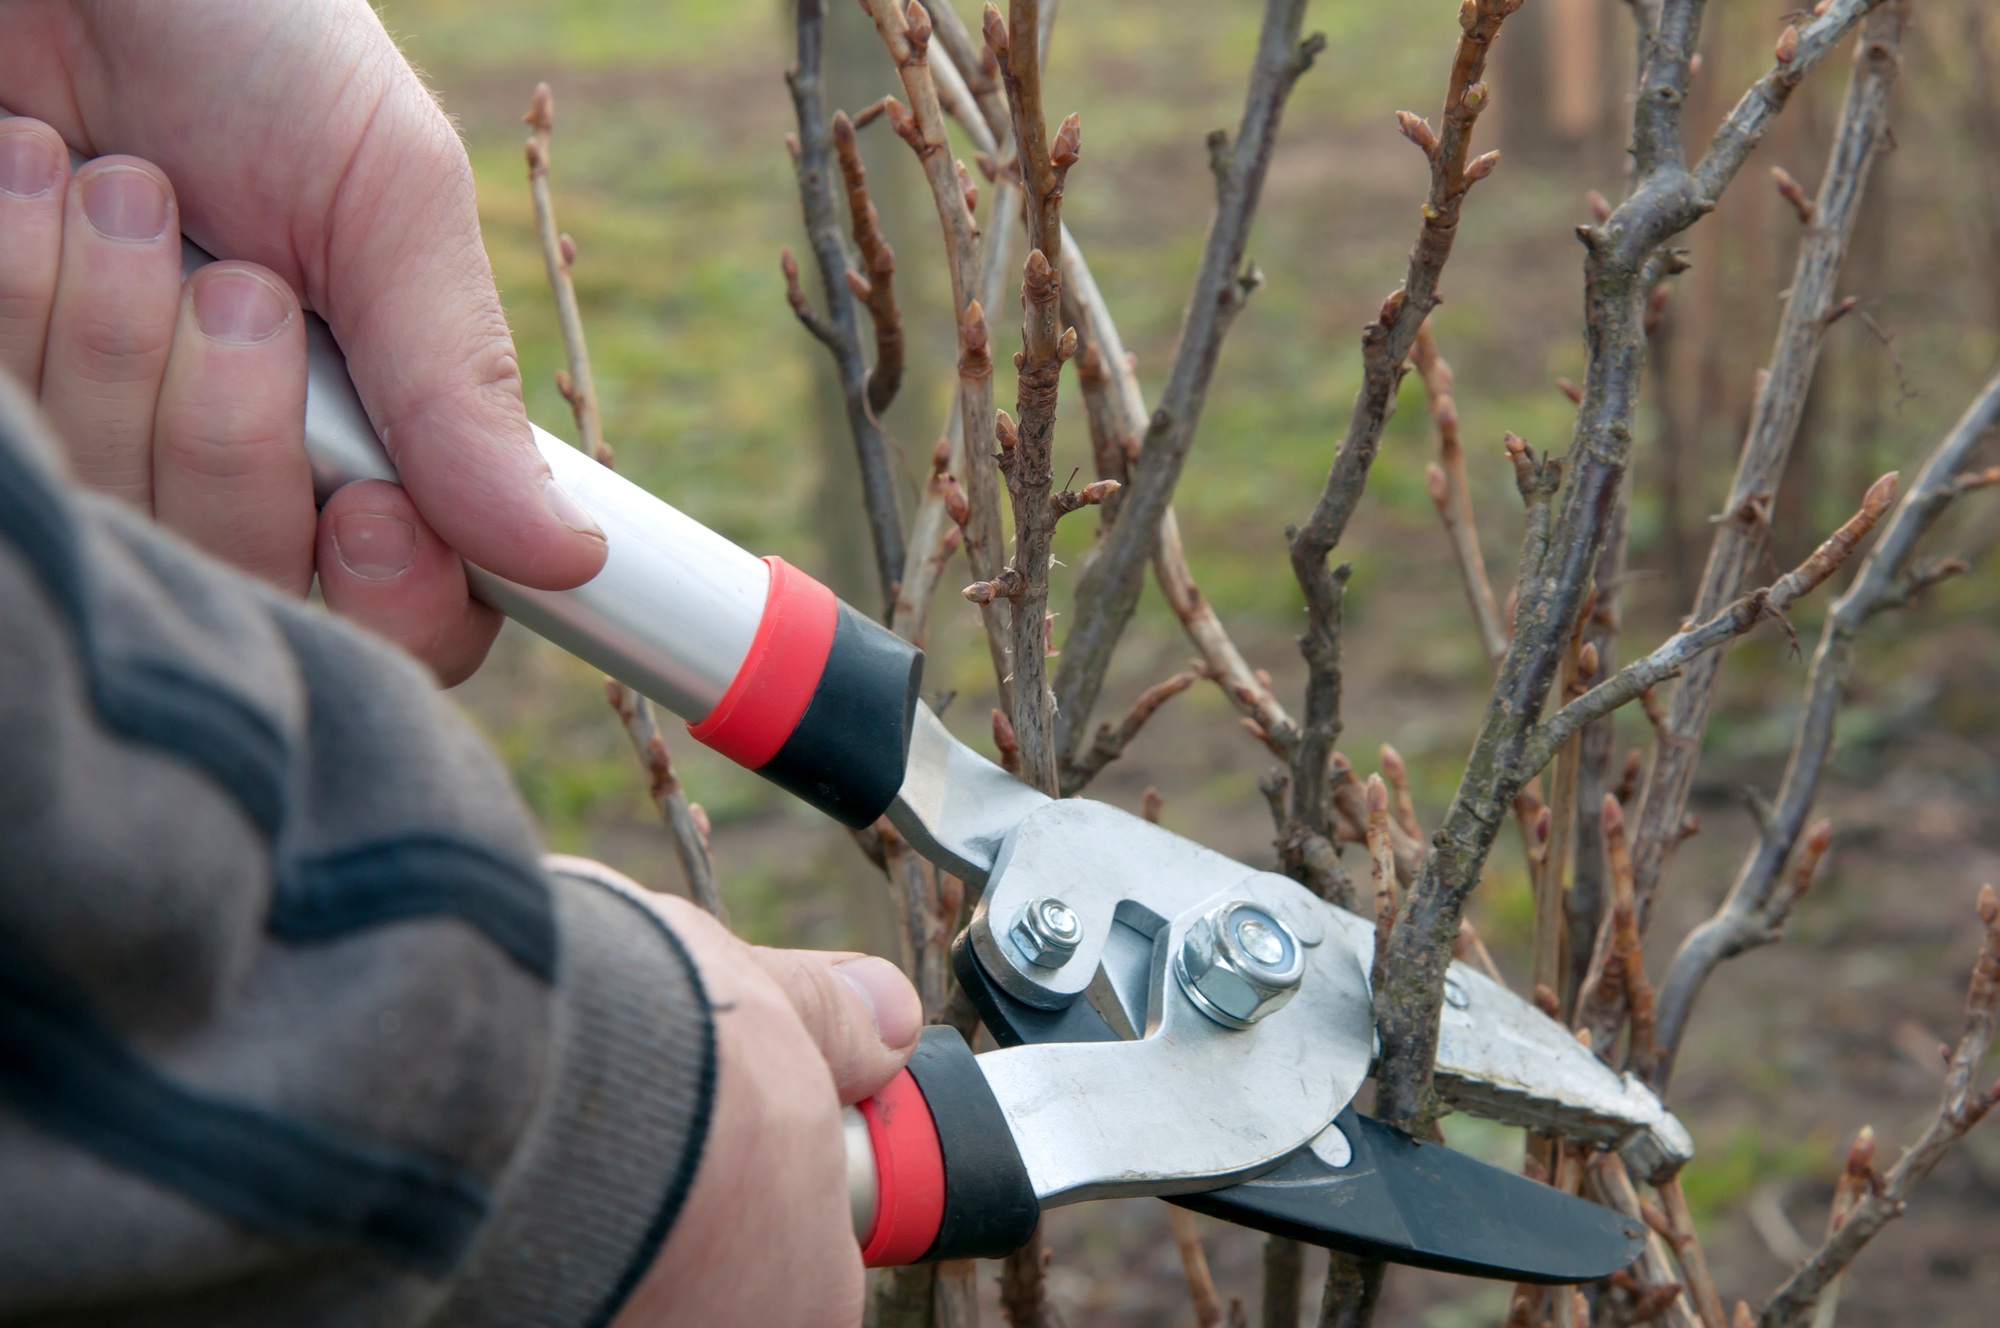
[[[872,954],[754,950],[834,1072],[840,1102],[874,1096],[910,1058],[924,1006],[902,970]]]

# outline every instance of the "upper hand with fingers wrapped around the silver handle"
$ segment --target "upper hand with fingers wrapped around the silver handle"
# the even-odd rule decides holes
[[[604,536],[528,434],[464,148],[366,0],[10,0],[0,106],[38,116],[0,120],[0,366],[78,478],[288,590],[316,568],[446,682],[498,630],[458,554],[596,574]],[[72,176],[66,146],[100,160]],[[244,262],[182,286],[182,230]],[[314,518],[300,296],[408,492]]]

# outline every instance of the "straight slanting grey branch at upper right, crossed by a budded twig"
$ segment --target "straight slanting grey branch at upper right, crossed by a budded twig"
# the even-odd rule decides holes
[[[1772,504],[1806,412],[1828,314],[1834,308],[1840,264],[1860,216],[1870,168],[1888,136],[1888,94],[1900,66],[1906,14],[1908,4],[1888,4],[1862,26],[1840,128],[1826,158],[1818,200],[1812,204],[1812,222],[1792,268],[1792,294],[1778,324],[1770,374],[1756,394],[1750,434],[1738,454],[1736,480],[1710,542],[1702,588],[1690,612],[1696,620],[1716,614],[1742,594],[1744,582],[1762,562],[1770,542]],[[1776,72],[1768,78],[1774,76]],[[1666,724],[1654,740],[1652,774],[1646,780],[1644,810],[1632,848],[1642,924],[1650,916],[1666,862],[1680,842],[1680,822],[1686,816],[1720,668],[1720,652],[1688,664],[1680,686],[1674,688]]]

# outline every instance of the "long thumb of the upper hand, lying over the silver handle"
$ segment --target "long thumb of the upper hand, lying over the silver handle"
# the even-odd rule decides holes
[[[330,226],[326,320],[432,530],[528,586],[596,576],[604,534],[528,434],[466,150],[400,62]]]

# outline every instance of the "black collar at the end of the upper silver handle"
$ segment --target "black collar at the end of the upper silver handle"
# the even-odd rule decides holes
[[[846,604],[798,728],[758,768],[840,824],[874,824],[902,788],[924,652]]]

